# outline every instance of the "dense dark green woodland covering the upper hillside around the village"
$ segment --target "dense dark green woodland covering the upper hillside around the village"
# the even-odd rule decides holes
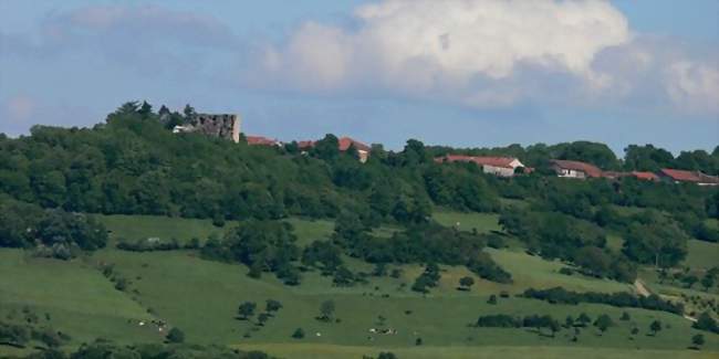
[[[626,160],[621,161],[606,146],[592,142],[452,150],[410,139],[398,152],[375,145],[369,160],[361,163],[356,150],[337,149],[333,135],[306,154],[300,152],[295,142],[251,147],[169,130],[192,115],[189,106],[185,115],[169,113],[164,106],[156,114],[147,103],[128,103],[92,129],[38,126],[30,136],[3,136],[0,231],[6,234],[0,243],[34,246],[39,240],[56,247],[66,241],[81,250],[104,244],[102,231],[93,230],[96,224],[91,219],[65,212],[212,219],[216,225],[228,220],[300,215],[336,218],[335,244],[371,262],[466,262],[445,253],[451,251],[446,244],[451,241],[441,239],[451,233],[430,230],[434,208],[444,207],[500,213],[507,233],[525,242],[531,251],[573,261],[594,275],[631,282],[636,276],[635,263],[673,266],[686,256],[689,237],[711,242],[719,237],[706,221],[719,217],[716,188],[632,178],[576,181],[555,178],[543,169],[550,159],[563,158],[605,169],[676,165],[716,172],[719,150],[712,155],[682,152],[675,159],[652,146],[631,146]],[[500,179],[481,173],[471,163],[433,161],[448,151],[518,156],[539,170]],[[525,205],[502,205],[507,200]],[[40,208],[53,210],[28,215]],[[635,211],[627,214],[622,208]],[[387,245],[371,234],[382,224],[399,225],[407,232],[396,233],[392,237],[396,243]],[[407,241],[407,236],[417,236],[413,234],[417,228],[435,233],[427,239],[437,237],[437,243],[445,244],[431,255],[377,254],[418,243]],[[607,246],[608,231],[625,237],[622,251]],[[55,256],[70,256],[69,249],[55,251],[60,252]],[[217,256],[219,252],[212,253]],[[289,255],[283,261],[296,257]],[[286,267],[275,266],[275,271],[286,272]]]

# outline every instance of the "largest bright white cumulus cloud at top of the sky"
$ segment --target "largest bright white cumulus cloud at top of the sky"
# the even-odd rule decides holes
[[[353,31],[303,24],[286,45],[267,49],[262,70],[302,89],[368,86],[504,106],[528,95],[515,81],[528,66],[588,91],[611,85],[592,63],[632,39],[625,17],[601,0],[385,0],[355,17]],[[499,82],[513,88],[486,88]]]

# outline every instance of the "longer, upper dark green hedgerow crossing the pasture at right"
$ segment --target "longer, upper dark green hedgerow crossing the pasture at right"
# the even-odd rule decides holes
[[[529,288],[522,294],[523,297],[546,300],[551,304],[570,304],[597,303],[624,308],[644,308],[649,310],[661,310],[674,314],[682,314],[684,305],[661,299],[656,294],[648,297],[635,296],[629,293],[618,292],[613,294],[585,292],[577,293],[566,291],[562,287],[551,289]]]

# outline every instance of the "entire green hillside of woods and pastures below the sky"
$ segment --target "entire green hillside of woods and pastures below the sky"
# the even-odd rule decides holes
[[[452,149],[410,139],[402,151],[374,145],[362,163],[333,135],[301,150],[296,142],[249,146],[171,131],[194,115],[189,106],[156,114],[128,103],[93,128],[38,126],[30,136],[0,136],[0,263],[11,273],[0,283],[0,329],[10,328],[0,330],[0,349],[231,356],[177,342],[186,330],[189,342],[235,344],[242,330],[241,340],[256,336],[258,344],[365,346],[363,326],[374,326],[372,340],[416,347],[433,339],[454,345],[473,331],[508,345],[545,345],[564,331],[571,342],[668,349],[694,332],[691,340],[701,336],[695,346],[705,334],[716,346],[719,190],[633,177],[558,178],[549,163],[716,173],[717,150],[674,158],[631,146],[617,159],[606,146],[583,141]],[[471,162],[435,161],[446,154],[515,156],[535,170],[500,178]],[[647,292],[643,281],[669,294]],[[704,291],[692,288],[697,283]],[[50,287],[62,299],[49,297]],[[256,313],[258,300],[265,312]],[[95,312],[85,314],[85,302]],[[596,317],[598,337],[580,304]],[[467,323],[476,310],[479,319]],[[387,317],[406,332],[397,335]],[[657,318],[674,339],[655,339]],[[638,326],[652,335],[637,336]],[[314,338],[303,327],[315,328]],[[534,328],[539,339],[501,332],[507,328]],[[97,339],[97,329],[123,339],[79,347]],[[323,339],[321,330],[343,337]],[[158,338],[175,345],[134,345]],[[475,352],[476,344],[462,342]]]

